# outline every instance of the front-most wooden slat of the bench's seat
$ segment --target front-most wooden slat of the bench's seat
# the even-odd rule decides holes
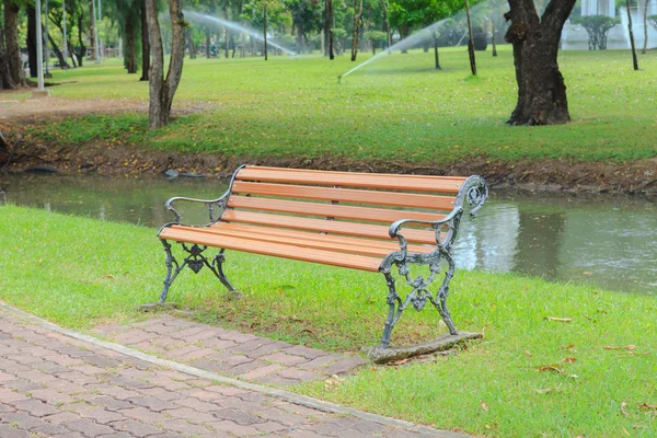
[[[164,228],[160,232],[161,239],[177,242],[196,243],[199,245],[224,247],[227,250],[244,251],[247,253],[273,255],[284,258],[303,262],[321,263],[324,265],[341,266],[353,269],[378,272],[382,258],[353,255],[339,252],[323,251],[316,249],[304,249],[272,242],[254,241],[253,239],[240,239],[228,235],[212,235],[201,232],[203,229]]]

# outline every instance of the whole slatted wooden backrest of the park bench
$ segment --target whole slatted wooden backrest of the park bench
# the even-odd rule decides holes
[[[244,166],[232,182],[221,221],[390,240],[399,219],[434,221],[454,209],[465,177]],[[408,242],[436,244],[412,229]]]

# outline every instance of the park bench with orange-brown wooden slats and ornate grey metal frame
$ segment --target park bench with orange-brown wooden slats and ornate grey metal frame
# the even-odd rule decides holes
[[[449,281],[454,272],[451,247],[466,203],[470,214],[488,195],[481,176],[424,176],[377,173],[326,172],[242,165],[218,199],[169,199],[165,207],[174,222],[158,237],[166,252],[166,278],[160,297],[164,303],[178,273],[189,266],[209,268],[229,291],[235,292],[222,265],[224,251],[234,250],[275,257],[381,273],[388,285],[388,320],[380,348],[408,304],[422,310],[434,304],[450,334],[458,334],[447,309]],[[203,203],[210,222],[181,222],[174,203]],[[178,263],[170,241],[181,244]],[[208,258],[208,247],[219,249]],[[447,262],[445,277],[435,292],[429,285]],[[412,278],[410,266],[428,267]],[[404,298],[397,292],[392,267],[408,284]]]

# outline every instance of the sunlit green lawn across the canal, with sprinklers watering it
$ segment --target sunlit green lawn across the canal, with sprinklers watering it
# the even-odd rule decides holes
[[[371,57],[360,54],[359,61]],[[464,48],[394,53],[349,74],[347,56],[185,59],[177,101],[203,103],[157,132],[146,115],[88,115],[31,127],[31,136],[58,145],[90,140],[227,158],[335,158],[347,161],[453,163],[465,160],[626,162],[657,154],[657,51],[562,51],[573,123],[509,127],[517,87],[512,56],[477,54],[470,76]],[[148,84],[117,60],[54,71],[55,96],[148,99]],[[175,107],[175,103],[174,103]],[[14,129],[23,129],[14,127]]]

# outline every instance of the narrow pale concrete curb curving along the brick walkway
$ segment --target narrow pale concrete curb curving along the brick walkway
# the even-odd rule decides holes
[[[434,429],[431,427],[416,425],[416,424],[405,422],[402,419],[390,418],[390,417],[385,417],[385,416],[377,415],[377,414],[370,414],[368,412],[355,410],[353,407],[341,406],[341,405],[337,405],[337,404],[334,404],[331,402],[324,402],[322,400],[313,399],[313,397],[310,397],[307,395],[296,394],[290,391],[279,390],[279,389],[275,389],[275,388],[264,387],[261,384],[244,382],[242,380],[231,379],[231,378],[228,378],[228,377],[224,377],[221,374],[217,374],[217,373],[205,371],[205,370],[201,370],[198,368],[189,367],[187,365],[178,364],[173,360],[161,359],[159,357],[148,355],[148,354],[138,351],[132,348],[128,348],[128,347],[119,345],[119,344],[102,341],[96,337],[85,335],[82,333],[78,333],[78,332],[69,330],[69,328],[60,327],[59,325],[53,324],[53,323],[50,323],[46,320],[43,320],[38,316],[35,316],[33,314],[30,314],[22,310],[13,308],[2,301],[0,301],[0,308],[2,308],[7,312],[12,313],[19,318],[30,321],[33,324],[51,330],[53,332],[57,332],[57,333],[60,333],[62,335],[69,336],[71,338],[74,338],[78,341],[83,341],[83,342],[87,342],[92,345],[107,348],[107,349],[120,353],[123,355],[130,356],[130,357],[143,360],[143,361],[147,361],[147,362],[150,362],[150,364],[163,367],[163,368],[170,368],[170,369],[173,369],[178,372],[184,372],[189,376],[195,376],[195,377],[198,377],[201,379],[212,380],[215,382],[219,382],[222,384],[257,392],[257,393],[261,393],[264,395],[273,396],[276,399],[284,400],[286,402],[295,403],[295,404],[298,404],[301,406],[310,407],[310,408],[326,412],[326,413],[333,413],[333,414],[338,414],[338,415],[350,415],[350,416],[354,416],[354,417],[357,417],[357,418],[360,418],[364,420],[377,423],[377,424],[380,424],[383,426],[399,427],[399,428],[403,428],[406,430],[413,430],[413,431],[417,431],[417,433],[422,433],[422,434],[434,435],[434,436],[437,436],[440,438],[468,438],[468,437],[470,437],[469,435],[464,435],[464,434],[460,434],[460,433],[452,433],[452,431],[448,431],[448,430],[438,430],[438,429]]]

